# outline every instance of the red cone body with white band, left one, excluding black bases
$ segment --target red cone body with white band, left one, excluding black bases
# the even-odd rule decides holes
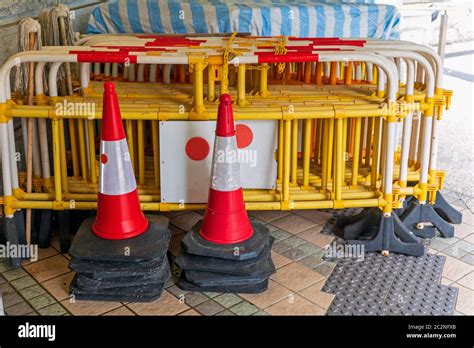
[[[97,217],[92,231],[105,239],[127,239],[148,228],[138,198],[115,86],[104,83]]]

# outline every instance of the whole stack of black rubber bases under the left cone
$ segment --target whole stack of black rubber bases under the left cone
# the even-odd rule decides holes
[[[161,296],[170,277],[171,232],[167,218],[147,219],[146,232],[124,240],[97,237],[91,230],[94,218],[82,223],[69,249],[69,267],[76,272],[70,290],[76,299],[148,302]]]

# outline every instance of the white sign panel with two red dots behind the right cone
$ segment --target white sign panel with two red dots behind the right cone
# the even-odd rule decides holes
[[[160,122],[161,201],[206,203],[215,121]],[[242,186],[274,189],[277,121],[236,122]]]

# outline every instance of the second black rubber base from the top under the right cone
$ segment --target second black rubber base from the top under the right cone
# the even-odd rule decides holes
[[[185,270],[209,271],[235,275],[254,275],[262,270],[269,269],[269,267],[273,267],[273,263],[270,259],[270,251],[273,242],[274,238],[269,236],[268,241],[260,254],[256,258],[249,260],[239,261],[218,259],[214,257],[186,254],[181,251],[174,261],[181,269]]]

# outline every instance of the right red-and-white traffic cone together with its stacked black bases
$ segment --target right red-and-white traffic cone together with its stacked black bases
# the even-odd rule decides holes
[[[240,183],[231,99],[221,95],[217,114],[211,185],[203,222],[184,236],[176,263],[178,287],[187,291],[259,293],[275,273],[273,237],[250,222]]]

